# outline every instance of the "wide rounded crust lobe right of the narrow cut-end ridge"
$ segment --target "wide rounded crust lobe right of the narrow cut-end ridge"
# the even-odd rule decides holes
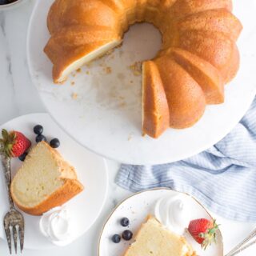
[[[202,88],[173,58],[156,59],[170,108],[170,127],[193,126],[202,117],[206,98]]]

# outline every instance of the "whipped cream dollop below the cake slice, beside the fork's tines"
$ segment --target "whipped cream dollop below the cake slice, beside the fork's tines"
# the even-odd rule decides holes
[[[57,246],[66,246],[73,240],[72,222],[65,206],[56,207],[43,214],[39,228]]]

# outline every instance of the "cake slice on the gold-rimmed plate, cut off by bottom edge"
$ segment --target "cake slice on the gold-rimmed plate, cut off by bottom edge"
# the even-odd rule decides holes
[[[124,256],[196,256],[186,239],[166,230],[154,217],[142,224]]]

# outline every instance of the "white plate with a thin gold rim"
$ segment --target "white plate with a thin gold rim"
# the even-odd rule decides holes
[[[123,255],[127,247],[130,245],[130,242],[124,242],[123,240],[118,244],[111,242],[111,237],[114,234],[122,234],[122,231],[127,229],[120,225],[119,222],[121,218],[126,217],[130,219],[129,229],[136,234],[139,226],[141,226],[142,222],[145,221],[146,216],[154,213],[154,205],[159,198],[166,198],[177,194],[182,193],[170,189],[159,188],[134,194],[123,201],[110,215],[110,218],[108,218],[105,226],[103,227],[102,234],[99,239],[98,256]],[[212,219],[210,214],[198,201],[189,195],[182,195],[187,197],[186,202],[189,204],[191,209],[191,219]],[[186,234],[186,239],[200,256],[223,256],[222,234],[220,230],[217,232],[217,243],[208,247],[207,250],[202,250],[198,243],[194,242],[194,239],[190,237],[190,234]]]

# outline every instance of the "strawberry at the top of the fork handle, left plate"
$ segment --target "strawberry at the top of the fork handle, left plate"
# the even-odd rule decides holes
[[[12,130],[8,133],[2,129],[2,138],[0,139],[0,149],[7,158],[18,158],[25,153],[31,146],[31,142],[22,133]]]

